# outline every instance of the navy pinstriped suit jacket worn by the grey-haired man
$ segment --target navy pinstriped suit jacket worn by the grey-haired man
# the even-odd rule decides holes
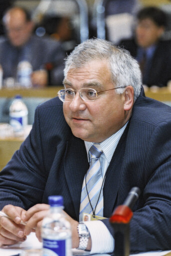
[[[130,222],[131,250],[171,248],[171,108],[143,93],[108,166],[103,187],[104,216],[110,217],[133,186],[140,196]],[[78,220],[83,177],[88,168],[84,142],[72,135],[62,103],[40,105],[30,135],[0,172],[0,208],[28,209],[64,197],[64,210]],[[108,219],[102,220],[112,233]]]

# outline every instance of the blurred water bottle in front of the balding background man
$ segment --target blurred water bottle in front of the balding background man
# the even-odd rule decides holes
[[[24,88],[30,88],[32,66],[28,61],[21,61],[17,66],[16,81],[17,84]]]

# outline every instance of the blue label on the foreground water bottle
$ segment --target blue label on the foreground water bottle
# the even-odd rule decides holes
[[[43,238],[43,256],[67,256],[67,240]]]

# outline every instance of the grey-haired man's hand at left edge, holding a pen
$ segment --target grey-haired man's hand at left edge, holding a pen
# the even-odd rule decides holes
[[[11,219],[0,217],[0,244],[14,244],[18,241],[24,241],[26,239],[23,232],[24,225],[19,223],[25,210],[9,204],[4,206],[2,211]]]

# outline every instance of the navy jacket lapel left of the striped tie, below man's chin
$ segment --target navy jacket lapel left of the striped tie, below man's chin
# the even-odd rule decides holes
[[[82,182],[87,169],[88,160],[84,142],[72,135],[66,144],[64,172],[77,219],[79,217]]]

